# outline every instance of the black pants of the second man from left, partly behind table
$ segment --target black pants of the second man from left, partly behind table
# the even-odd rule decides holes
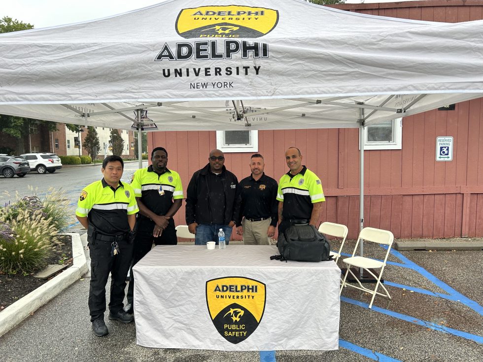
[[[159,237],[153,236],[155,223],[149,219],[139,217],[136,223],[137,233],[134,240],[133,260],[129,275],[131,277],[128,286],[128,304],[133,304],[134,301],[134,273],[133,266],[138,263],[144,256],[149,253],[154,245],[176,245],[178,239],[176,238],[176,230],[174,229],[174,221],[170,219],[168,226]]]

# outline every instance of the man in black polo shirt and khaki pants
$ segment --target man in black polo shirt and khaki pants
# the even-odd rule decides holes
[[[277,223],[276,181],[263,169],[263,156],[251,156],[251,175],[240,182],[242,205],[237,220],[237,234],[243,235],[245,245],[269,245]]]

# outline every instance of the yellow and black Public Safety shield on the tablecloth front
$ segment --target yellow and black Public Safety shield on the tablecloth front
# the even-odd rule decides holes
[[[265,284],[244,277],[207,281],[209,316],[218,332],[234,344],[257,329],[265,310]]]

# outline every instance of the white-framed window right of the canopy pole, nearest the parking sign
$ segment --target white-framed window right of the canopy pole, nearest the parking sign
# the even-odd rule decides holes
[[[403,119],[384,121],[364,129],[365,150],[400,150],[403,146]]]

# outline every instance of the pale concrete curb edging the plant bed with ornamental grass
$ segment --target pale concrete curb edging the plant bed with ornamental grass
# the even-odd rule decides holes
[[[80,235],[77,233],[67,233],[67,235],[72,237],[72,265],[35,291],[2,310],[0,312],[0,337],[19,325],[30,314],[80,279],[89,270]]]

